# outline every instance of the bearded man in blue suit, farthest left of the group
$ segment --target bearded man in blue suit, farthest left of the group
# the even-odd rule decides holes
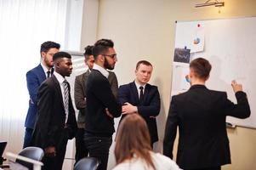
[[[37,92],[40,84],[51,77],[53,69],[53,55],[59,52],[60,44],[56,42],[43,42],[40,49],[41,63],[26,73],[26,84],[30,95],[29,108],[25,121],[25,137],[23,148],[31,143],[31,135],[37,117]]]

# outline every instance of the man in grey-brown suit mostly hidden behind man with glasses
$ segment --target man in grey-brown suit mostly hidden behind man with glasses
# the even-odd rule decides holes
[[[88,75],[94,66],[94,56],[92,49],[94,46],[87,46],[84,48],[84,63],[88,66],[88,70],[75,79],[75,104],[77,110],[79,110],[77,118],[77,136],[76,136],[76,162],[82,159],[82,157],[88,156],[88,150],[83,142],[83,133],[85,125],[85,112],[86,112],[86,95],[85,95],[85,84],[87,82]],[[108,80],[111,84],[112,93],[117,98],[118,82],[116,74],[109,71]]]

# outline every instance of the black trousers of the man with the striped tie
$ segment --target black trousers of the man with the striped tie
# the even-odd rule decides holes
[[[56,146],[56,156],[48,157],[43,156],[43,170],[61,170],[63,161],[65,158],[65,149],[67,144],[67,138],[63,139],[58,146]]]

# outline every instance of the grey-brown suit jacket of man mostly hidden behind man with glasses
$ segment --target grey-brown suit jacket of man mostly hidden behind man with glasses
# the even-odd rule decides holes
[[[77,117],[77,126],[79,128],[85,127],[85,112],[86,112],[86,95],[85,95],[85,88],[86,88],[86,82],[88,79],[90,71],[86,71],[82,73],[81,75],[77,76],[75,79],[75,104],[77,107],[78,117]],[[108,80],[111,84],[111,91],[114,94],[114,96],[117,98],[117,92],[118,92],[118,82],[116,74],[112,71],[109,71],[109,77]]]

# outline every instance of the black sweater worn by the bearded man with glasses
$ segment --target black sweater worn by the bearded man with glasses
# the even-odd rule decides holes
[[[108,108],[112,116],[118,117],[121,116],[122,105],[118,104],[110,82],[100,71],[91,71],[86,87],[85,130],[97,136],[111,136],[115,132],[114,119],[106,115],[105,108]]]

